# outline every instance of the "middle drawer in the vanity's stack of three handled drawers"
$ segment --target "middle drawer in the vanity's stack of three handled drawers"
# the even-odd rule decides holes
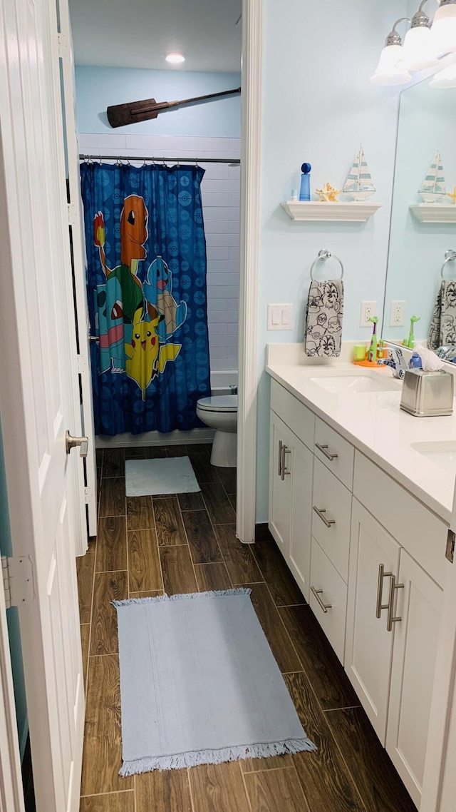
[[[329,522],[329,527],[326,524]],[[348,579],[351,493],[320,460],[313,467],[312,536],[339,575]]]

